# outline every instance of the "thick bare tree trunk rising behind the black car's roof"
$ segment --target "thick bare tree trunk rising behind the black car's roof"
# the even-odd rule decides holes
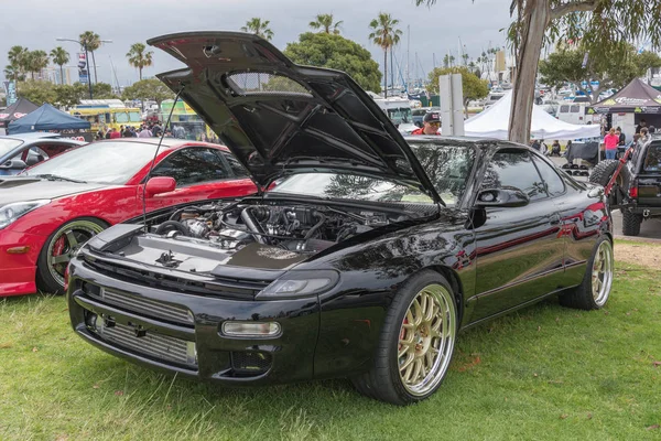
[[[517,56],[517,76],[512,84],[509,140],[513,142],[528,144],[530,140],[534,83],[544,41],[544,30],[550,20],[549,0],[528,2],[523,12],[523,29]]]

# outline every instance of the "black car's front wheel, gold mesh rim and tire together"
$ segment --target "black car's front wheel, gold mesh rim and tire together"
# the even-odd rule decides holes
[[[353,378],[362,395],[404,406],[438,389],[457,332],[457,306],[451,284],[423,271],[397,292],[369,372]]]

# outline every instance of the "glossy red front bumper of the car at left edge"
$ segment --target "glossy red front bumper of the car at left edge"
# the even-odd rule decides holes
[[[36,292],[36,260],[45,238],[0,229],[0,297]]]

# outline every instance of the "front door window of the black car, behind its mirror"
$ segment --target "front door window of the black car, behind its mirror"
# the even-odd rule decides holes
[[[545,185],[530,153],[525,150],[503,149],[497,151],[485,173],[483,189],[516,187],[528,194],[531,201],[548,197]]]

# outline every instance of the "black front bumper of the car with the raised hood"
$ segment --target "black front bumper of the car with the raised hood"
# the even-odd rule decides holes
[[[319,325],[316,298],[227,299],[124,280],[80,258],[72,260],[72,325],[90,344],[152,368],[226,385],[312,378]],[[226,321],[277,322],[281,332],[268,338],[232,337],[221,332]]]

